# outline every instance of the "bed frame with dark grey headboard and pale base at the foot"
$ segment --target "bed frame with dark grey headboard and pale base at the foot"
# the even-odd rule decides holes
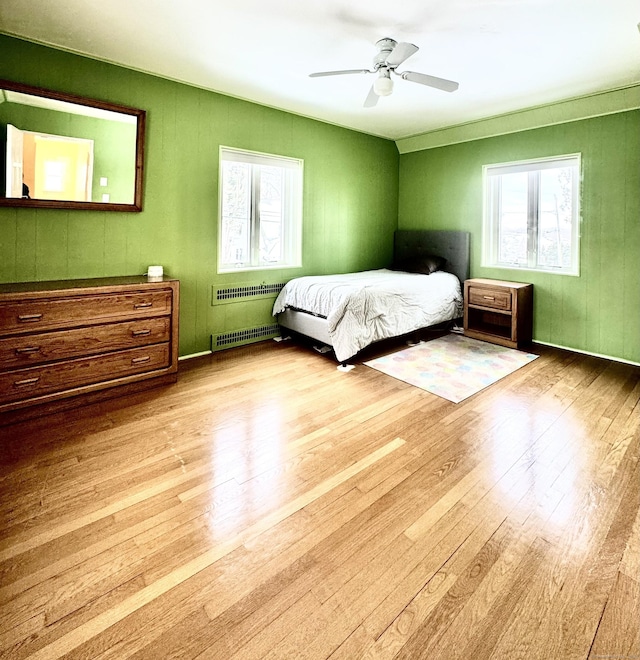
[[[393,240],[394,261],[436,254],[447,260],[444,270],[456,275],[462,286],[469,279],[469,238],[464,231],[398,230]],[[321,316],[286,309],[278,314],[278,324],[331,346],[327,320]]]

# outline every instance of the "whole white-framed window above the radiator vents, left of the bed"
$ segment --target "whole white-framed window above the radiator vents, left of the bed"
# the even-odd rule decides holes
[[[218,272],[301,265],[302,161],[220,148]]]

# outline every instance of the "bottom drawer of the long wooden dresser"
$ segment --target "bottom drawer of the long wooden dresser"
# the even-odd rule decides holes
[[[0,403],[168,367],[168,343],[0,373]]]

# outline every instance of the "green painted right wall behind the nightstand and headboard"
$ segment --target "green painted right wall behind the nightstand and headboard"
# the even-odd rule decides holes
[[[482,166],[582,154],[580,277],[483,268]],[[640,362],[640,111],[400,157],[400,229],[464,229],[471,274],[534,284],[534,338]]]

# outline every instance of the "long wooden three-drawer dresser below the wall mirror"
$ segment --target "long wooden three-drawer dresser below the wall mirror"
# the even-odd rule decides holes
[[[0,284],[0,413],[174,382],[178,313],[172,279]]]

